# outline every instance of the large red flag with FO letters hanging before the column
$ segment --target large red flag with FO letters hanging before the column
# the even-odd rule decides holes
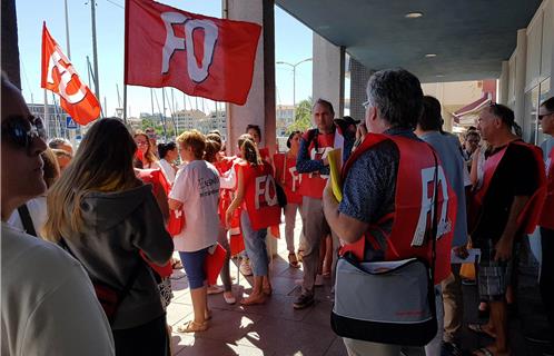
[[[127,0],[125,83],[244,105],[261,27]]]

